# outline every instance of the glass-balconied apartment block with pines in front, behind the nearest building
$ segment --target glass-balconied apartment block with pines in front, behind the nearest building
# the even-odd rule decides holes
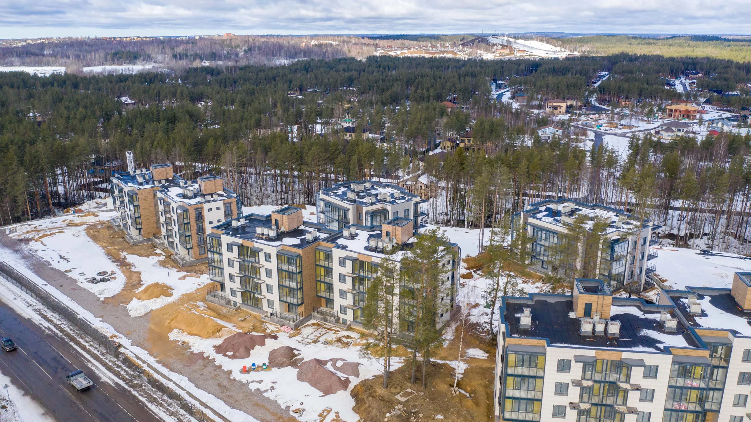
[[[659,226],[649,219],[640,221],[620,209],[566,199],[532,203],[514,215],[514,228],[523,225],[532,238],[529,268],[538,273],[550,273],[556,265],[555,252],[551,249],[562,243],[561,234],[568,233],[577,216],[600,217],[609,223],[605,231],[608,244],[595,252],[600,256],[589,257],[587,254],[593,252],[582,248],[578,268],[581,269],[585,259],[592,258],[599,262],[599,278],[612,290],[631,282],[643,286],[647,274],[656,270],[649,261],[657,257],[657,251],[650,246],[657,243],[653,231]]]

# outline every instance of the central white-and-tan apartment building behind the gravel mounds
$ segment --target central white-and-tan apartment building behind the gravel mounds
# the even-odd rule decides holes
[[[210,278],[219,285],[208,292],[207,300],[243,307],[265,321],[291,327],[311,318],[361,327],[370,281],[382,261],[390,259],[386,252],[414,242],[414,222],[395,216],[380,222],[379,228],[348,225],[337,230],[303,221],[302,209],[295,206],[223,222],[208,236]],[[459,247],[451,247],[459,256]],[[438,318],[443,323],[454,310],[459,263],[447,254],[442,265],[445,294],[438,300],[445,306]],[[401,294],[412,288],[406,283],[397,293],[402,309],[413,305]]]

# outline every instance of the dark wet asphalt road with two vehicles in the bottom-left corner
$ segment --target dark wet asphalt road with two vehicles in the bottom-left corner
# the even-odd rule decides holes
[[[161,420],[137,396],[97,375],[80,352],[32,321],[0,303],[0,335],[11,337],[17,350],[0,349],[0,372],[32,396],[59,422],[150,422]],[[65,375],[82,369],[94,381],[90,390],[77,392]]]

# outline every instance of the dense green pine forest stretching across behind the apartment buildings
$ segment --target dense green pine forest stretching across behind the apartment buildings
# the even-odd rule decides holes
[[[595,86],[600,71],[611,77]],[[686,71],[707,77],[689,93],[666,88],[666,77]],[[529,100],[496,101],[492,80]],[[537,129],[552,121],[533,111],[552,98],[595,100],[615,121],[709,98],[740,113],[751,107],[749,82],[749,62],[626,54],[379,56],[94,77],[0,73],[0,225],[106,194],[107,177],[125,169],[131,150],[140,166],[170,161],[185,178],[221,174],[246,205],[313,203],[332,182],[396,181],[422,170],[434,185],[430,219],[443,225],[490,227],[526,203],[572,197],[646,213],[679,246],[704,237],[704,246],[747,254],[751,136],[659,140],[646,131],[619,153],[588,147],[586,130],[570,120],[558,123],[565,136],[542,140]],[[618,98],[634,101],[622,106]],[[457,105],[451,112],[447,100]],[[363,137],[363,128],[380,136]],[[472,149],[430,154],[470,130]]]

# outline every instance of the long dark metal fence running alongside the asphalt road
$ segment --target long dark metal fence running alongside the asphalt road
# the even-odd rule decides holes
[[[89,321],[86,321],[85,318],[82,318],[77,312],[65,305],[65,303],[62,303],[58,298],[39,287],[35,282],[29,280],[26,276],[19,273],[14,267],[6,264],[4,261],[0,261],[0,278],[5,279],[17,288],[20,288],[24,293],[33,297],[35,300],[38,300],[40,303],[43,303],[44,306],[52,309],[54,312],[62,316],[62,318],[65,318],[66,321],[78,327],[84,334],[86,334],[86,336],[89,336],[90,339],[95,341],[98,345],[101,345],[107,353],[119,360],[119,362],[128,367],[128,369],[143,376],[151,387],[164,394],[164,396],[173,399],[178,403],[182,410],[196,420],[199,420],[200,422],[210,422],[216,421],[216,417],[218,417],[219,420],[224,422],[231,422],[228,418],[223,417],[222,414],[219,414],[218,411],[202,402],[201,399],[198,399],[198,397],[194,396],[189,391],[182,390],[182,392],[180,392],[165,384],[161,378],[169,378],[159,372],[158,369],[155,369],[148,362],[141,360],[137,355],[128,351],[122,351],[119,342],[110,339],[106,333],[102,333],[101,330],[98,330],[97,327],[92,325]],[[214,414],[216,414],[216,417],[204,413],[201,408],[197,408],[191,400],[185,399],[186,395],[195,400],[195,402],[200,403],[204,408],[213,411]]]

